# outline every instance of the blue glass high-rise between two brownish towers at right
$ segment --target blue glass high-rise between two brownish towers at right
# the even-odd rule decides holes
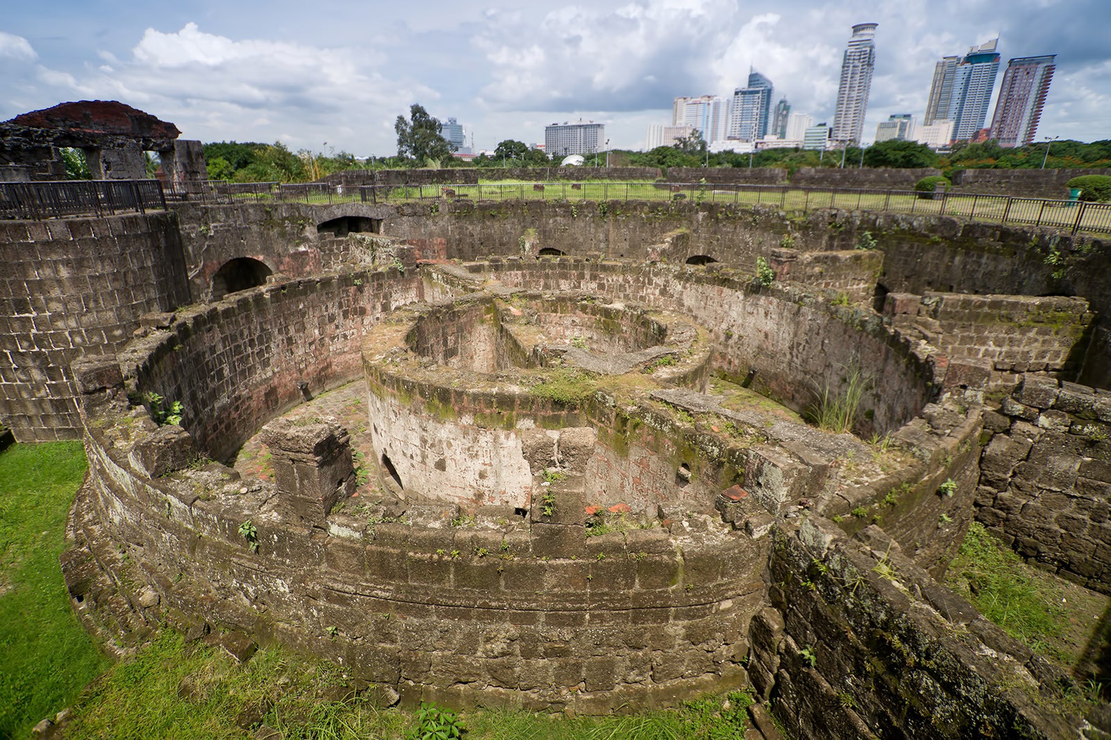
[[[1007,62],[989,137],[1000,147],[1022,147],[1034,140],[1057,54],[1019,57]]]

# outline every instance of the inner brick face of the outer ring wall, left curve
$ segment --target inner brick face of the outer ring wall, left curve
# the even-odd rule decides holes
[[[168,317],[119,354],[140,390],[184,406],[209,457],[227,459],[276,413],[361,373],[360,340],[396,307],[432,297],[398,270],[306,278]]]

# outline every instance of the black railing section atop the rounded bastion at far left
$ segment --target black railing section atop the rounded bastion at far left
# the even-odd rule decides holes
[[[166,210],[158,180],[0,182],[0,218],[41,220],[64,216]]]

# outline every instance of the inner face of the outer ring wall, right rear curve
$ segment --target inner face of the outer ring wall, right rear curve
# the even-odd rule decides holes
[[[797,410],[814,401],[821,381],[828,379],[838,393],[845,368],[867,369],[875,384],[862,408],[872,411],[881,433],[909,421],[932,393],[931,370],[878,317],[842,321],[824,302],[785,288],[758,289],[749,276],[717,266],[632,267],[565,257],[553,262],[510,259],[467,268],[514,288],[585,290],[690,316],[712,328],[718,369],[740,378],[755,369],[753,386]]]

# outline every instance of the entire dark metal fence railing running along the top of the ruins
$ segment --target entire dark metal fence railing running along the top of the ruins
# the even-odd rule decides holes
[[[728,189],[727,189],[728,188]],[[243,201],[334,204],[454,201],[561,200],[685,201],[767,204],[803,213],[820,209],[893,211],[954,216],[993,223],[1020,223],[1111,233],[1111,203],[1013,198],[955,192],[917,192],[850,188],[687,182],[512,182],[480,184],[401,184],[344,187],[324,182],[191,182],[168,189],[157,180],[98,180],[0,183],[0,218],[41,219],[77,213],[116,213],[164,208],[166,201],[237,203]]]

